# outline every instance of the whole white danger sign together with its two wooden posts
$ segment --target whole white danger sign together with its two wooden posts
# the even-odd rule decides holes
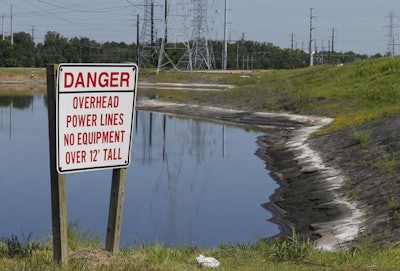
[[[135,64],[47,67],[53,246],[58,263],[68,261],[66,173],[113,169],[105,248],[119,251],[137,74]]]

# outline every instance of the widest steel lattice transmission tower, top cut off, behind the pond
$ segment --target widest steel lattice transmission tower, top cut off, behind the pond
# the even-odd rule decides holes
[[[194,5],[192,32],[192,67],[195,70],[213,69],[212,47],[208,40],[207,0],[192,0]]]

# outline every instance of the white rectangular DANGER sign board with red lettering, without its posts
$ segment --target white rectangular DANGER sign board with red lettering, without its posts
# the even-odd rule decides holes
[[[60,64],[56,92],[57,171],[127,167],[138,68]]]

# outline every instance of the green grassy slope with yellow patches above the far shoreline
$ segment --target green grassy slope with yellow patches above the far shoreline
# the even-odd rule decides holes
[[[169,101],[333,117],[330,130],[400,114],[400,58],[251,74],[142,73],[143,80],[233,84],[230,91],[161,91]],[[140,76],[139,76],[140,78]],[[140,80],[140,79],[139,79]],[[141,90],[139,89],[139,92]]]

